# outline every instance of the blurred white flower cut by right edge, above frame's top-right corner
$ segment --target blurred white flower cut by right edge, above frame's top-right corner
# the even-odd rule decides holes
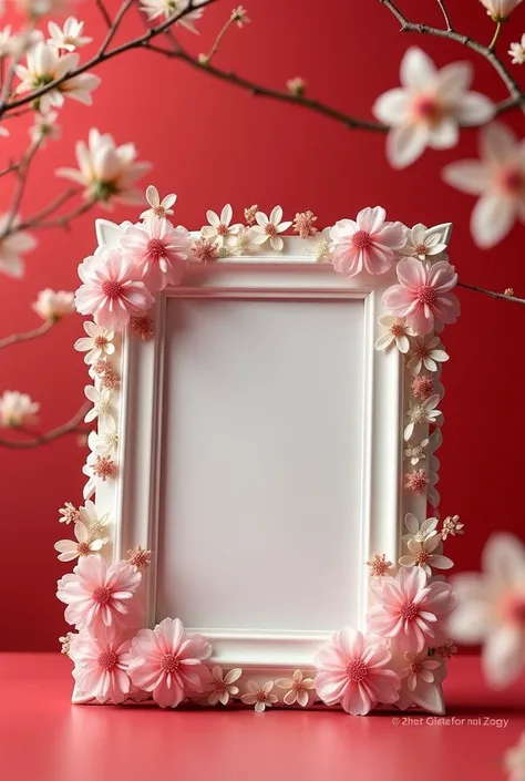
[[[525,219],[525,154],[509,127],[493,122],[480,134],[481,161],[463,160],[443,169],[444,181],[481,196],[471,217],[478,247],[493,247]]]

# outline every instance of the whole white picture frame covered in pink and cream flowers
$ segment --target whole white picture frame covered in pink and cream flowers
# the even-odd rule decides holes
[[[231,225],[227,205],[189,234],[147,195],[79,268],[97,430],[55,546],[79,558],[58,590],[73,702],[442,712],[451,225],[375,207],[281,236],[280,207]]]

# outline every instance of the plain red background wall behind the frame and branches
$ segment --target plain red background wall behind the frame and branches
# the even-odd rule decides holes
[[[106,4],[112,10],[120,6],[116,0]],[[195,53],[207,50],[231,6],[218,2],[207,10],[199,38],[183,33],[186,45]],[[217,64],[276,88],[299,74],[310,95],[362,116],[370,116],[378,94],[398,85],[398,65],[409,44],[422,45],[440,65],[471,58],[449,41],[399,34],[398,23],[377,0],[247,0],[246,6],[253,22],[230,31]],[[432,0],[404,0],[402,6],[413,20],[442,23]],[[490,40],[493,24],[478,2],[449,0],[447,6],[459,30]],[[86,20],[85,32],[100,38],[103,24],[94,2],[80,4],[78,14]],[[141,30],[136,12],[133,17],[126,34]],[[521,7],[504,30],[502,51],[519,39],[524,22]],[[82,56],[93,51],[94,44]],[[505,97],[491,66],[472,60],[475,88],[494,100]],[[287,216],[310,208],[321,226],[379,203],[392,218],[410,225],[453,220],[451,253],[460,277],[495,290],[513,286],[525,295],[523,228],[516,227],[494,250],[476,249],[469,233],[473,198],[440,181],[449,161],[476,155],[476,132],[463,133],[455,150],[426,152],[408,171],[394,172],[385,162],[383,135],[351,132],[316,114],[254,97],[183,63],[132,52],[104,64],[99,74],[103,81],[94,106],[69,102],[61,116],[62,142],[50,143],[35,161],[23,216],[61,192],[54,169],[75,164],[75,141],[95,126],[119,143],[136,143],[141,158],[154,164],[150,179],[161,193],[178,193],[176,218],[188,228],[199,228],[207,208],[219,209],[227,202],[237,210],[253,203],[267,210],[280,203]],[[505,120],[522,133],[523,116]],[[24,120],[9,126],[11,137],[1,140],[1,167],[28,140]],[[1,179],[2,210],[11,184]],[[137,214],[121,208],[114,218],[134,219]],[[100,215],[84,216],[70,233],[41,232],[23,280],[0,277],[0,335],[39,323],[30,304],[40,289],[74,289],[76,264],[93,248],[93,219]],[[443,514],[459,513],[466,524],[466,535],[447,544],[464,569],[477,568],[491,531],[523,530],[519,345],[525,309],[463,290],[461,298],[461,320],[444,336],[452,360],[443,378],[440,487]],[[75,315],[48,337],[0,354],[0,392],[19,389],[40,401],[43,430],[70,417],[82,401],[86,372],[72,349],[80,332]],[[52,545],[63,531],[58,508],[64,501],[81,503],[84,458],[74,436],[31,452],[0,449],[1,649],[51,650],[63,634],[54,587],[66,565],[56,561]]]

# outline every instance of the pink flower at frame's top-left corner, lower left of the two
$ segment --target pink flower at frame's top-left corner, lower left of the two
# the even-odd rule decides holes
[[[97,326],[112,331],[124,328],[132,315],[145,315],[153,296],[142,273],[114,247],[99,247],[79,266],[83,285],[75,292],[76,310],[93,315]]]

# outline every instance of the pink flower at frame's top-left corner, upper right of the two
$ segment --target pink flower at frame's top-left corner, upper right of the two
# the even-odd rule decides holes
[[[141,271],[150,290],[178,285],[186,270],[191,238],[186,228],[174,228],[167,219],[150,219],[132,225],[121,239],[124,256]]]

